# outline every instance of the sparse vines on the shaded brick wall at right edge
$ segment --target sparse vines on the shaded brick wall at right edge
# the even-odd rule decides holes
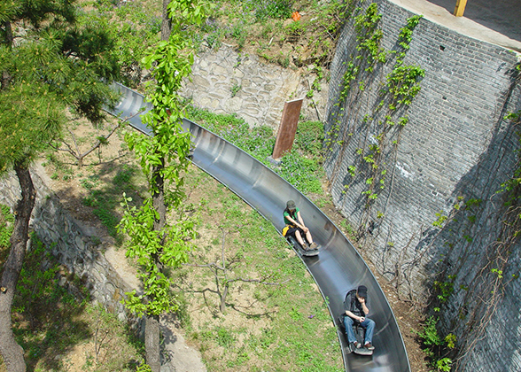
[[[513,70],[510,90],[518,87],[521,81],[521,64]],[[509,95],[506,95],[509,97]],[[503,106],[508,104],[505,98]],[[521,149],[521,110],[510,112],[504,117],[512,130],[509,133],[518,136],[517,149]],[[490,207],[494,204],[493,207]],[[488,206],[488,207],[487,207]],[[475,242],[480,237],[481,225],[477,221],[497,221],[499,229],[489,239],[491,243]],[[433,226],[439,228],[439,234],[447,239],[447,260],[440,260],[439,274],[433,285],[433,308],[439,312],[454,312],[453,307],[446,306],[452,296],[463,298],[457,300],[457,323],[461,337],[454,353],[455,369],[464,364],[465,357],[474,349],[478,341],[485,337],[486,329],[494,318],[505,289],[519,277],[518,267],[512,266],[512,252],[519,245],[521,237],[521,151],[517,150],[517,164],[512,175],[502,182],[496,195],[483,201],[478,198],[458,198],[453,210],[447,216],[440,212]],[[485,239],[485,241],[487,241]],[[458,260],[454,259],[457,255]],[[452,259],[450,259],[452,257]],[[466,262],[473,262],[475,273],[463,270]],[[459,278],[457,275],[468,276]]]

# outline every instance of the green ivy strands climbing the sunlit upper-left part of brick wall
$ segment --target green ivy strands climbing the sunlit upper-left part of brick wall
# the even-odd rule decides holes
[[[341,90],[338,95],[338,102],[335,106],[338,107],[337,118],[334,120],[335,124],[332,126],[328,136],[325,140],[328,150],[332,150],[333,144],[342,145],[345,137],[342,138],[338,135],[340,128],[340,120],[345,116],[346,112],[344,106],[346,98],[350,95],[354,95],[352,89],[358,87],[359,91],[365,89],[365,82],[358,81],[360,72],[362,70],[367,73],[372,73],[377,63],[385,64],[387,62],[387,56],[391,52],[387,52],[380,46],[383,38],[383,32],[378,27],[378,23],[381,20],[382,15],[378,13],[377,4],[369,4],[365,12],[362,8],[357,8],[356,12],[358,15],[354,18],[354,29],[356,32],[357,46],[354,55],[350,56],[349,60],[344,62],[346,65],[346,71],[342,77]],[[385,115],[384,120],[378,120],[377,125],[379,133],[375,136],[377,143],[371,143],[368,149],[358,149],[357,154],[361,155],[360,159],[365,165],[365,176],[367,190],[362,191],[362,195],[367,197],[369,207],[371,202],[377,199],[377,190],[385,189],[385,164],[383,156],[385,149],[389,146],[393,146],[393,151],[398,148],[400,136],[397,139],[388,140],[388,137],[392,128],[400,130],[408,124],[408,116],[404,115],[399,118],[394,118],[396,112],[401,107],[407,107],[410,105],[420,91],[420,81],[424,77],[424,70],[419,66],[405,66],[403,64],[403,58],[405,57],[405,51],[409,49],[409,43],[412,40],[414,28],[419,23],[421,16],[413,16],[407,19],[407,25],[400,29],[400,35],[398,36],[398,44],[402,51],[399,54],[399,58],[394,63],[393,70],[390,74],[387,74],[385,80],[384,89],[380,92],[382,99],[380,100],[377,108],[374,112],[366,113],[363,116],[362,122],[367,125],[368,130],[371,128],[371,124],[374,122],[374,117],[378,111],[385,112],[381,115]],[[393,50],[393,54],[398,51]],[[357,83],[356,83],[357,82]],[[398,126],[396,125],[398,124]],[[348,134],[347,136],[350,136]],[[346,135],[344,135],[346,136]],[[362,174],[364,167],[361,167]],[[352,181],[353,182],[353,181]],[[347,185],[348,186],[348,185]],[[377,188],[377,189],[376,189]],[[348,189],[348,187],[347,187]],[[346,190],[344,190],[345,192]]]

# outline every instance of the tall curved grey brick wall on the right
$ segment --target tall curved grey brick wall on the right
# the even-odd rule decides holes
[[[382,14],[381,45],[400,51],[400,28],[414,14],[387,0],[374,3]],[[362,9],[355,15],[369,4],[360,2]],[[358,229],[360,249],[381,274],[400,284],[400,291],[422,298],[439,275],[450,278],[454,292],[441,306],[442,328],[455,333],[460,345],[473,345],[458,370],[517,371],[521,283],[509,278],[519,274],[518,243],[510,246],[502,267],[503,275],[509,276],[501,303],[485,327],[486,338],[479,340],[467,331],[476,321],[472,314],[484,304],[476,296],[493,279],[494,244],[504,235],[505,199],[496,191],[517,165],[517,128],[503,118],[521,109],[514,69],[519,58],[510,50],[420,19],[404,65],[424,69],[422,88],[411,105],[397,110],[395,117],[407,115],[408,124],[386,133],[388,145],[380,155],[387,171],[385,188],[368,200],[362,192],[369,188],[370,165],[363,156],[369,145],[378,143],[383,128],[378,121],[385,120],[387,112],[377,110],[377,105],[396,55],[388,54],[387,62],[372,73],[362,72],[356,87],[341,100],[347,63],[359,53],[357,44],[352,18],[330,69],[326,110],[326,132],[338,134],[324,164],[335,204]],[[363,89],[358,88],[360,82]],[[473,199],[481,202],[471,205]],[[441,222],[439,216],[448,216],[443,229],[433,225]]]

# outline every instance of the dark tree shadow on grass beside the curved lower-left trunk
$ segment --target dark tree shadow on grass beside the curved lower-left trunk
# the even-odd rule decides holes
[[[74,278],[60,285],[62,274],[51,252],[33,237],[12,307],[13,332],[29,371],[60,369],[61,356],[91,336],[82,318],[89,291]]]

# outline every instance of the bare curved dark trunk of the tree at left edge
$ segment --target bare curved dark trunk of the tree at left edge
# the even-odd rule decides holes
[[[11,251],[0,279],[0,354],[4,357],[9,372],[25,372],[24,351],[12,334],[12,298],[18,283],[19,273],[26,254],[29,238],[29,220],[35,206],[35,186],[27,167],[14,165],[18,176],[22,198],[15,208],[14,229],[11,236]]]

